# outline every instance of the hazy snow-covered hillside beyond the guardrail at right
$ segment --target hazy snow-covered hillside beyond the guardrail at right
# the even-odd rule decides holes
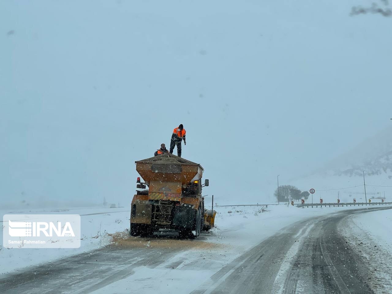
[[[365,175],[367,199],[384,195],[387,200],[392,199],[391,133],[392,128],[387,128],[369,136],[327,165],[292,179],[290,184],[303,190],[316,189],[314,202],[318,202],[318,198],[336,201],[338,197],[341,201],[352,201],[352,198],[365,201]]]

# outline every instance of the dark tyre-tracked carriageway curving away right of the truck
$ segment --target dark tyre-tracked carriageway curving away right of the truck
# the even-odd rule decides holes
[[[192,294],[374,293],[367,283],[370,270],[338,225],[347,216],[375,210],[299,221],[236,258]]]

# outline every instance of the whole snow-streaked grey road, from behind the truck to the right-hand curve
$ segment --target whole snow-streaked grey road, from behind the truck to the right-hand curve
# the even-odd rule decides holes
[[[189,283],[187,293],[192,294],[374,293],[367,283],[367,265],[338,226],[348,216],[379,209],[386,208],[345,210],[298,221],[227,265],[217,262],[220,245],[205,242],[205,236],[118,240],[109,247],[6,274],[0,279],[0,293],[96,294],[131,289],[149,293],[149,283],[166,285],[173,279]],[[135,278],[138,274],[140,278]]]

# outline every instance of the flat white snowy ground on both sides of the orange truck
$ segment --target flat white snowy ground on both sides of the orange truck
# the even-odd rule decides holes
[[[205,249],[198,249],[196,246],[192,256],[203,256],[214,260],[217,263],[210,267],[216,271],[224,264],[234,260],[237,256],[244,253],[254,245],[272,236],[283,227],[295,223],[298,220],[310,218],[312,216],[336,213],[343,209],[353,209],[354,207],[323,207],[323,208],[297,208],[286,205],[269,205],[261,212],[261,207],[218,207],[215,224],[216,228],[207,234],[206,238],[200,238],[198,242],[211,243],[211,250],[206,254]],[[357,207],[362,208],[362,207]],[[229,211],[231,211],[229,213]],[[0,211],[2,215],[13,211]],[[25,213],[44,213],[42,210],[28,211]],[[14,211],[13,213],[22,213]],[[126,208],[116,209],[69,209],[45,211],[45,213],[78,213],[81,215],[82,238],[79,249],[7,249],[0,245],[0,274],[23,270],[32,265],[45,262],[53,262],[82,252],[109,245],[112,242],[111,236],[115,232],[124,232],[129,229],[129,211]],[[1,242],[2,230],[0,229]],[[128,233],[123,234],[128,238]],[[133,238],[133,237],[131,237]],[[140,242],[149,246],[149,241],[140,238]],[[217,245],[217,246],[215,246]],[[186,254],[186,253],[185,253]],[[209,256],[209,254],[211,256]],[[175,258],[180,258],[176,256]],[[191,260],[189,260],[190,262]],[[168,261],[169,262],[169,261]],[[153,274],[151,272],[151,274]],[[207,274],[204,272],[204,274]],[[210,272],[211,274],[211,272]],[[136,276],[132,276],[135,279]],[[124,288],[125,289],[125,288]],[[164,292],[164,291],[163,291]]]

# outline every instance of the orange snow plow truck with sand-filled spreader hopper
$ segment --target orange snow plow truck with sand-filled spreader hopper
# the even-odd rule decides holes
[[[197,238],[214,226],[216,211],[204,208],[201,196],[203,167],[170,153],[136,161],[136,195],[131,203],[132,236],[150,236],[174,229],[180,238]],[[146,189],[148,187],[148,189]]]

